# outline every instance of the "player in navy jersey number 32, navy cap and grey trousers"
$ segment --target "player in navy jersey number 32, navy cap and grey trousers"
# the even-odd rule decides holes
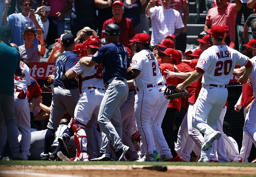
[[[61,78],[65,77],[65,72],[75,65],[77,55],[73,53],[75,46],[74,36],[70,33],[63,35],[62,46],[65,51],[59,55],[56,61],[51,114],[47,125],[48,130],[45,134],[44,153],[41,154],[41,160],[49,160],[50,147],[54,139],[55,131],[57,131],[59,127],[59,121],[65,111],[68,111],[71,117],[74,117],[74,110],[80,96],[78,86],[71,85],[69,88],[66,88],[61,80]]]

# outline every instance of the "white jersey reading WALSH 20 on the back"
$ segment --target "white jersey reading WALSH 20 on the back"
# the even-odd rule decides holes
[[[214,45],[200,56],[196,69],[204,72],[202,84],[226,85],[235,65],[244,66],[248,57],[226,45]]]

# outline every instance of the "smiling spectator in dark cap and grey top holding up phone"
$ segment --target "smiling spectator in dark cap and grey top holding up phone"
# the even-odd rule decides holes
[[[40,45],[33,44],[35,37],[40,41]],[[23,32],[23,38],[25,39],[25,44],[19,46],[20,57],[28,62],[39,62],[40,55],[45,53],[44,36],[42,34],[36,35],[32,27],[27,27]]]

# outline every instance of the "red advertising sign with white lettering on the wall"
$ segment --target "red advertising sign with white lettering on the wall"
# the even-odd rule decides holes
[[[29,62],[30,76],[35,79],[48,79],[49,75],[54,75],[52,67],[55,66],[54,62]]]

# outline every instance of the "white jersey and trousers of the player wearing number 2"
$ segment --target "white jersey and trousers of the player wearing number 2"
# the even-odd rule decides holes
[[[140,70],[140,74],[133,79],[137,95],[135,95],[135,116],[137,127],[141,135],[141,142],[145,144],[145,155],[153,154],[153,134],[150,118],[153,108],[159,104],[160,92],[156,78],[160,73],[158,62],[149,49],[141,50],[132,58],[132,70]]]

